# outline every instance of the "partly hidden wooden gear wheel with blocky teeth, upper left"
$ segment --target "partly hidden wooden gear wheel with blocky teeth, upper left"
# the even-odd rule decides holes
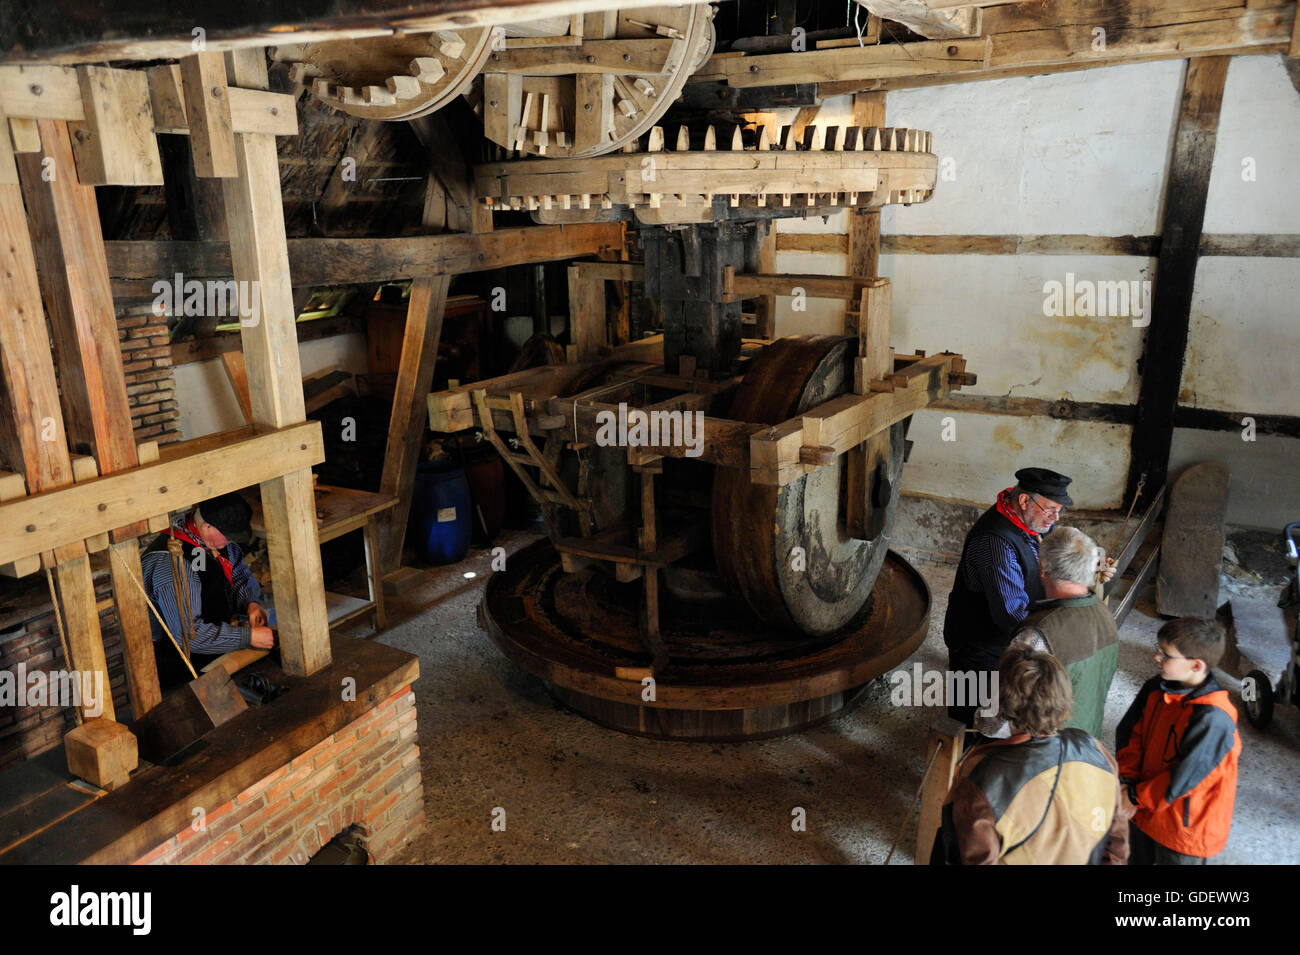
[[[361,120],[413,120],[463,94],[491,52],[493,29],[324,40],[280,47],[290,78]]]

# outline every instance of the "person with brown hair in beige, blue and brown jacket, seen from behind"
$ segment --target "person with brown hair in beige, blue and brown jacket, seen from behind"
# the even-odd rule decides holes
[[[1072,694],[1050,654],[1013,643],[998,661],[1011,735],[957,767],[931,864],[1123,865],[1115,760],[1080,729],[1062,729]]]

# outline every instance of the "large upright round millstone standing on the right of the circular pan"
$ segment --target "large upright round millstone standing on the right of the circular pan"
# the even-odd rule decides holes
[[[729,418],[776,425],[852,390],[852,339],[798,335],[768,346],[750,363]],[[859,541],[845,533],[841,499],[848,457],[781,487],[757,485],[749,472],[714,476],[712,539],[718,572],[762,620],[800,634],[827,635],[853,625],[871,596],[898,509],[904,422],[890,429],[887,481],[874,502],[883,531]]]

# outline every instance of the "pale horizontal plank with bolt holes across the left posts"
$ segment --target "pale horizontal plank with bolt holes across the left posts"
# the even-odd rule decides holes
[[[309,421],[187,457],[4,502],[0,503],[0,564],[265,483],[324,460],[320,422]],[[78,515],[75,525],[68,521],[70,513]],[[309,524],[315,531],[316,521]]]

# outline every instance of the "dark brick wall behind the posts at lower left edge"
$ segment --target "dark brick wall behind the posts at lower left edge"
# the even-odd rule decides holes
[[[107,572],[95,574],[95,596],[101,607],[112,595],[112,579]],[[32,609],[26,624],[0,638],[0,670],[17,673],[20,663],[26,670],[64,670],[64,648],[58,641],[55,612],[48,600]],[[66,625],[66,621],[65,621]],[[99,613],[99,628],[104,637],[104,655],[108,657],[108,681],[113,693],[113,706],[121,715],[129,707],[126,665],[122,661],[122,635],[117,626],[117,612],[108,604]],[[64,734],[77,726],[70,708],[0,707],[0,770],[46,750],[58,746]]]

